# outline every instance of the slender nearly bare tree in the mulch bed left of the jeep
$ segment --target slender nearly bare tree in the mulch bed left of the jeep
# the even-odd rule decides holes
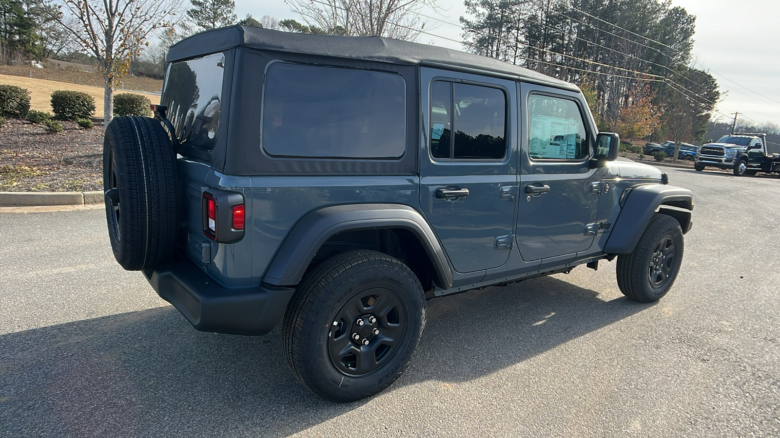
[[[61,13],[51,17],[97,58],[105,79],[103,118],[114,114],[114,83],[157,29],[171,26],[181,0],[55,0]]]

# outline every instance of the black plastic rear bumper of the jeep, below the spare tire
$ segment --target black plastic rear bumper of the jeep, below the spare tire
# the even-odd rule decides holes
[[[154,291],[200,331],[266,334],[285,313],[295,289],[264,284],[223,288],[189,260],[174,259],[144,271]]]

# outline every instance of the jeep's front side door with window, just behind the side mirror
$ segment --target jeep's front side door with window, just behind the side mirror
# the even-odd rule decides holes
[[[521,84],[523,136],[517,245],[523,260],[585,251],[593,243],[601,171],[580,94]]]

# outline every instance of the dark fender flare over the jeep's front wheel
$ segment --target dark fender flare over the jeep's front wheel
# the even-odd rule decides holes
[[[605,253],[631,253],[655,213],[668,214],[677,219],[683,234],[690,231],[693,225],[693,193],[689,189],[648,184],[627,190],[630,192],[604,245]]]

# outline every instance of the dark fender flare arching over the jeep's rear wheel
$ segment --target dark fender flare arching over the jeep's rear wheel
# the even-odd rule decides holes
[[[452,270],[444,249],[424,217],[402,204],[363,203],[324,207],[303,215],[279,247],[265,272],[264,283],[298,284],[317,249],[342,231],[403,228],[415,235],[434,266],[438,285],[452,287]]]

